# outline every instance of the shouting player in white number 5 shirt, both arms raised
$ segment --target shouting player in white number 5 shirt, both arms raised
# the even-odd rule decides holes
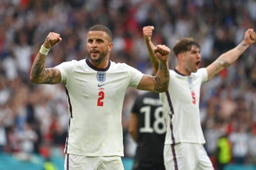
[[[151,41],[153,30],[153,26],[143,28],[144,39],[152,58],[155,47]],[[248,29],[240,44],[222,54],[206,68],[199,68],[201,50],[194,39],[182,38],[175,44],[173,51],[178,63],[174,70],[169,70],[168,91],[160,94],[167,119],[164,145],[166,169],[214,169],[203,147],[205,139],[199,115],[200,87],[223,68],[237,61],[255,41],[255,32]],[[154,66],[157,67],[157,64],[156,59]]]

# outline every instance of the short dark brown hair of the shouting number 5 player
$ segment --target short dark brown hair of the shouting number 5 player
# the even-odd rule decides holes
[[[201,48],[199,43],[195,41],[193,38],[181,38],[179,41],[176,42],[174,45],[173,51],[176,56],[178,56],[180,53],[187,52],[191,50],[191,46],[195,45],[198,48]]]

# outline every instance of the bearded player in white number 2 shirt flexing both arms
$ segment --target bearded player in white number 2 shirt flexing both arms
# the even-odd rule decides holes
[[[89,58],[45,68],[50,48],[61,40],[57,33],[48,34],[33,62],[30,80],[37,84],[66,85],[70,119],[65,169],[123,169],[121,110],[125,91],[129,86],[166,91],[170,49],[157,45],[154,53],[160,61],[159,70],[155,77],[143,75],[129,65],[110,61],[112,33],[96,25],[87,34]]]

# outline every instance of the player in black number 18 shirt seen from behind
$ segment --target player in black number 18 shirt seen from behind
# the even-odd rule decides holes
[[[166,124],[158,93],[146,92],[137,96],[129,131],[137,142],[133,170],[164,170]]]

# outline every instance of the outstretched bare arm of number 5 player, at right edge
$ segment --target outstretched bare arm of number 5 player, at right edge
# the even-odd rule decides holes
[[[244,51],[253,43],[256,42],[256,34],[253,29],[248,29],[245,32],[244,40],[234,47],[232,50],[222,54],[213,63],[206,67],[208,80],[218,74],[222,69],[231,65],[244,53]]]

